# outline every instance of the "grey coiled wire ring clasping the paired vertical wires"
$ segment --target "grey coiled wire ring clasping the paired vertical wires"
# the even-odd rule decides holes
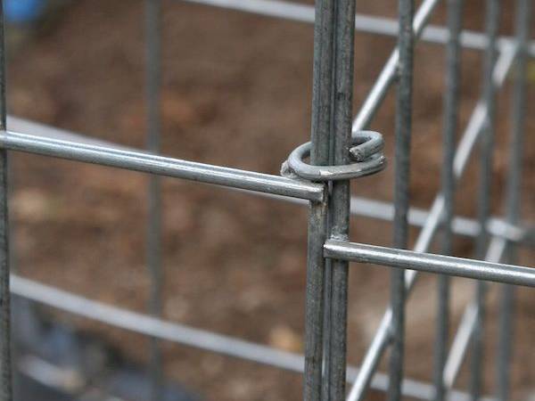
[[[341,166],[312,166],[303,160],[310,156],[311,144],[295,148],[281,167],[282,176],[299,176],[309,181],[336,181],[369,176],[386,167],[383,155],[383,135],[375,131],[358,131],[351,137],[350,159]]]

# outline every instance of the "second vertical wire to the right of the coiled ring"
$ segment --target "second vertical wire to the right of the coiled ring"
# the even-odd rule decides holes
[[[448,0],[449,41],[446,48],[446,94],[444,97],[444,122],[442,134],[442,194],[444,196],[444,221],[442,226],[442,253],[450,255],[453,249],[452,222],[455,202],[455,143],[458,130],[459,84],[461,72],[460,33],[462,29],[463,0]],[[449,276],[438,277],[437,328],[435,341],[434,385],[435,401],[444,401],[446,385],[444,367],[448,358],[449,340]]]

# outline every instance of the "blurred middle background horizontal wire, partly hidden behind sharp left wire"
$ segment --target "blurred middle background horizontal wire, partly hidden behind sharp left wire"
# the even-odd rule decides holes
[[[13,116],[8,116],[7,127],[12,131],[31,132],[34,135],[45,138],[93,144],[95,146],[106,146],[124,151],[139,151],[136,148],[124,146],[118,143],[111,143],[88,135],[78,134],[61,128],[47,126],[29,119],[21,119]],[[289,201],[301,205],[309,204],[309,202],[306,200],[300,200],[283,195],[273,195],[266,192],[254,193],[260,196],[282,201]],[[384,221],[392,221],[394,216],[394,206],[391,202],[368,199],[360,196],[351,197],[350,211],[351,214],[355,216],[370,217]],[[416,227],[422,227],[425,225],[429,214],[430,210],[428,209],[411,208],[408,212],[408,223]],[[493,236],[503,237],[508,241],[525,242],[528,245],[533,245],[535,242],[535,238],[532,238],[535,237],[535,235],[530,235],[531,231],[535,230],[529,225],[526,227],[510,225],[503,218],[492,217],[489,219],[487,228]],[[479,223],[469,217],[457,216],[453,220],[453,232],[459,235],[474,237],[480,232]]]

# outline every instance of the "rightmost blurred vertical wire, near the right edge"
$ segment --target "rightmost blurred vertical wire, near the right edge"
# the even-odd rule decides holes
[[[514,77],[513,125],[509,151],[509,172],[506,186],[506,218],[510,224],[520,223],[523,147],[526,115],[527,46],[530,39],[532,0],[516,1],[515,29],[518,53]],[[506,261],[516,263],[514,242],[507,241]],[[509,396],[510,364],[513,347],[514,287],[501,286],[498,331],[497,398],[506,401]]]

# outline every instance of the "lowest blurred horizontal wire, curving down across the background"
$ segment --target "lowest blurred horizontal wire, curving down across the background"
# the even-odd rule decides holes
[[[282,351],[211,331],[194,329],[185,324],[173,323],[151,315],[114,307],[93,299],[87,299],[70,291],[63,291],[29,280],[17,274],[11,274],[11,291],[19,297],[30,299],[73,315],[107,323],[120,329],[259,364],[266,364],[291,372],[303,372],[304,357],[300,354]],[[348,381],[353,381],[357,373],[358,367],[348,366]],[[382,372],[377,372],[372,381],[372,388],[385,391],[387,387],[388,376]],[[403,381],[402,389],[406,397],[423,400],[432,399],[434,392],[432,384],[411,379]],[[450,399],[452,401],[468,401],[469,396],[463,391],[453,390]],[[492,398],[486,397],[483,398],[483,401],[492,401]]]

